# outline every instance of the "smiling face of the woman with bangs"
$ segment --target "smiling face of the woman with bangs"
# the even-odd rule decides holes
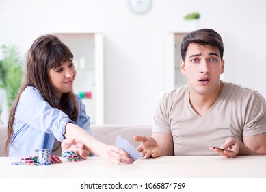
[[[72,91],[76,73],[77,71],[72,59],[48,72],[48,78],[52,86],[51,89],[57,99],[61,98],[62,93]]]

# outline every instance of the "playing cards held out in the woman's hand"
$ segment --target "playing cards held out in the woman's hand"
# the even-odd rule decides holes
[[[139,151],[137,151],[137,149],[135,149],[135,147],[131,145],[127,139],[122,139],[120,136],[116,136],[116,146],[129,153],[129,156],[133,159],[133,161],[142,157],[142,154],[139,153]]]

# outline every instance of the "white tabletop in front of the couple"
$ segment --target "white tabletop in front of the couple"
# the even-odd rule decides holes
[[[163,156],[114,165],[101,157],[79,162],[12,165],[0,158],[0,178],[266,178],[266,156]]]

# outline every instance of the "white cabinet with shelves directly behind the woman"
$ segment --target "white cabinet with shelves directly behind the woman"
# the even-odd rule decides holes
[[[103,35],[54,33],[74,55],[74,93],[83,98],[90,123],[104,123]]]

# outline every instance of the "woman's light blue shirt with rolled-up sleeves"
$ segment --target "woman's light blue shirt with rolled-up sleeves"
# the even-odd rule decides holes
[[[66,123],[75,123],[91,134],[90,117],[86,115],[85,104],[79,95],[75,97],[79,108],[76,122],[62,110],[51,107],[36,88],[25,88],[16,107],[9,156],[34,156],[38,149],[49,149],[51,153],[55,138],[58,141],[65,139]]]

